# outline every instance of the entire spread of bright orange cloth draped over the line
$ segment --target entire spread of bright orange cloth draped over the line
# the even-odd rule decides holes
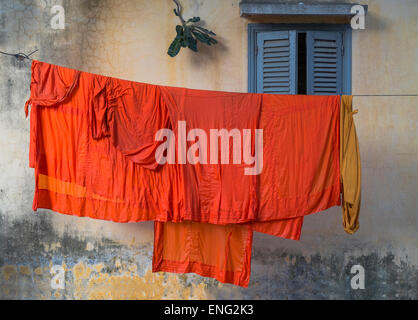
[[[340,204],[338,96],[156,86],[33,61],[29,105],[33,209],[156,221],[153,271],[247,286],[253,231],[297,240],[305,215]],[[177,150],[159,164],[156,133],[179,121],[208,137],[263,129],[261,174],[244,175],[232,145],[229,164],[178,163]]]

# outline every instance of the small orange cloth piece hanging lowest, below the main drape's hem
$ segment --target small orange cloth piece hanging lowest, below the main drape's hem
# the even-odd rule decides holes
[[[251,225],[155,222],[152,271],[197,273],[247,287],[251,273]]]

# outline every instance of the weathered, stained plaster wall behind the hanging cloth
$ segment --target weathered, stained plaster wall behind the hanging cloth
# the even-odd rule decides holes
[[[62,1],[0,1],[0,50],[135,81],[247,90],[247,32],[238,0],[183,0],[220,43],[166,51],[178,23],[169,0],[64,1],[66,28],[49,25]],[[335,2],[335,1],[332,1]],[[370,0],[353,31],[353,93],[418,92],[418,3]],[[283,22],[277,18],[264,22]],[[152,223],[117,224],[31,211],[30,63],[0,56],[0,298],[418,298],[417,97],[356,97],[363,165],[361,227],[343,232],[340,208],[305,219],[301,241],[256,234],[249,288],[196,275],[152,274]],[[50,285],[52,265],[66,272]],[[360,264],[366,288],[352,290]]]

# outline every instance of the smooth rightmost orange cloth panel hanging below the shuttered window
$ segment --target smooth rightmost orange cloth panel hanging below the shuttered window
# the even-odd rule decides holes
[[[258,220],[340,205],[339,96],[263,95]]]

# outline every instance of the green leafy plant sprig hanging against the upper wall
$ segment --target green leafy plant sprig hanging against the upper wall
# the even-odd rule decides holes
[[[208,46],[218,42],[211,37],[216,36],[214,32],[196,25],[200,21],[199,17],[193,17],[187,21],[184,20],[181,15],[180,4],[177,0],[173,1],[177,5],[177,9],[174,9],[174,14],[180,18],[181,25],[176,26],[177,35],[168,48],[167,54],[170,57],[175,57],[181,48],[186,47],[197,52],[197,41],[203,42]]]

